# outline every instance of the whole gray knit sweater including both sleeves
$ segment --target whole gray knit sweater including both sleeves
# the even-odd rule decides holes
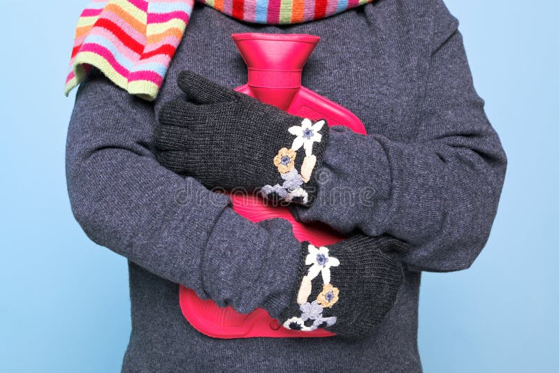
[[[421,371],[421,270],[472,264],[491,230],[506,168],[457,27],[441,0],[376,0],[286,26],[239,22],[196,3],[156,101],[130,96],[99,74],[82,83],[68,129],[68,193],[85,233],[129,260],[124,372]],[[401,256],[407,271],[393,309],[358,342],[213,339],[180,311],[178,284],[241,312],[266,307],[272,314],[295,286],[298,244],[289,224],[252,224],[225,196],[154,159],[157,110],[180,94],[177,73],[244,84],[246,66],[230,34],[251,31],[321,36],[303,85],[349,108],[369,134],[332,132],[321,166],[328,182],[296,217],[344,233],[388,233],[412,247]]]

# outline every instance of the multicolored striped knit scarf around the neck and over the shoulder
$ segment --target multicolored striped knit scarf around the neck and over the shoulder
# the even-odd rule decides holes
[[[238,20],[317,20],[372,0],[196,0]],[[65,94],[92,66],[130,94],[152,101],[187,27],[194,0],[92,0],[75,30]]]

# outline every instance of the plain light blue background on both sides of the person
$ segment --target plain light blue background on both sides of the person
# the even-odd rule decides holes
[[[117,372],[130,331],[126,261],[82,233],[64,177],[75,91],[62,88],[86,1],[0,3],[0,371]],[[476,263],[423,276],[424,369],[558,372],[559,6],[447,5],[509,168]]]

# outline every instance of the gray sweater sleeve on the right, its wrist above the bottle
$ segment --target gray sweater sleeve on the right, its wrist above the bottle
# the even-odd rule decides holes
[[[468,268],[484,247],[507,159],[484,112],[456,18],[435,1],[428,75],[412,142],[333,127],[321,184],[300,221],[388,233],[412,249],[410,269]]]

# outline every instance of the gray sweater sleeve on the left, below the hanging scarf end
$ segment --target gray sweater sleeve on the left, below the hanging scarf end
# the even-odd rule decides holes
[[[253,224],[227,196],[154,159],[152,103],[93,71],[68,128],[75,218],[96,243],[219,305],[279,314],[295,286],[300,244],[282,219]],[[282,265],[270,265],[282,263]]]

